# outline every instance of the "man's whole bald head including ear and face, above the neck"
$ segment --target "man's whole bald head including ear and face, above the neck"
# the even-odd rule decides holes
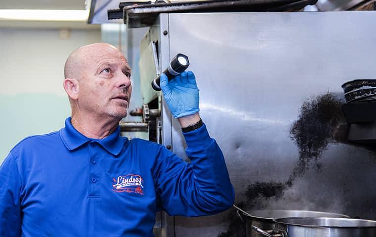
[[[65,62],[63,86],[72,118],[121,119],[131,97],[131,68],[114,46],[94,43],[76,49]]]

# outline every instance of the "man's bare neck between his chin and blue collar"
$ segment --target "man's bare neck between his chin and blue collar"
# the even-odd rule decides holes
[[[116,130],[120,120],[73,113],[71,123],[82,135],[93,139],[103,139]]]

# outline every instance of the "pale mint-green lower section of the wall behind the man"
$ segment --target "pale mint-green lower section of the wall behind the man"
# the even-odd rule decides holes
[[[26,136],[46,134],[64,126],[70,107],[65,96],[48,93],[0,95],[0,162]]]

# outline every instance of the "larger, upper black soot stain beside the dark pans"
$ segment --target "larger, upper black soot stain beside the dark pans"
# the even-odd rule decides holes
[[[303,102],[299,119],[290,128],[291,139],[299,149],[297,164],[287,181],[290,185],[296,177],[310,168],[320,171],[320,156],[330,142],[346,142],[348,125],[341,106],[344,100],[333,93],[319,95]]]

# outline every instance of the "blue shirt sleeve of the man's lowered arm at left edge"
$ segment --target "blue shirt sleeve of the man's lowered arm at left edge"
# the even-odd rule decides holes
[[[0,236],[21,236],[21,179],[10,153],[0,167]]]

